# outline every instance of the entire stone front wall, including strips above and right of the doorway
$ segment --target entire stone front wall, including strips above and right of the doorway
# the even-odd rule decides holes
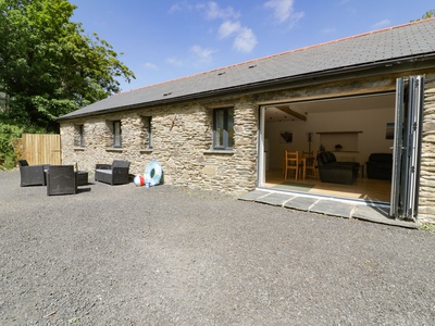
[[[94,171],[96,163],[114,159],[132,162],[132,174],[142,174],[151,161],[159,161],[164,183],[192,189],[239,195],[257,186],[259,105],[291,100],[394,91],[397,73],[344,82],[287,88],[254,96],[222,97],[215,100],[159,105],[120,113],[62,122],[63,164],[78,162]],[[235,145],[232,152],[212,150],[213,109],[235,109]],[[145,117],[152,117],[152,149],[148,148]],[[122,149],[111,146],[111,123],[122,122]],[[74,147],[84,125],[85,147]],[[426,75],[419,218],[435,223],[435,75]]]

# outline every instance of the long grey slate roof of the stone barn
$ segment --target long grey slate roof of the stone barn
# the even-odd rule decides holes
[[[59,120],[249,89],[253,86],[308,77],[312,74],[427,55],[435,55],[435,18],[365,33],[121,92],[63,115]]]

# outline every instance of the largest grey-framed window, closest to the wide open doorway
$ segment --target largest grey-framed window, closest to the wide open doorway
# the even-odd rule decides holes
[[[234,146],[234,109],[213,112],[213,149],[227,150]]]

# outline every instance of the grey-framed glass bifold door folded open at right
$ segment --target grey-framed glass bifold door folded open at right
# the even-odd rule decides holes
[[[414,220],[418,213],[424,76],[396,83],[391,216]]]

